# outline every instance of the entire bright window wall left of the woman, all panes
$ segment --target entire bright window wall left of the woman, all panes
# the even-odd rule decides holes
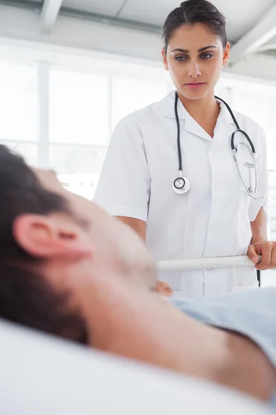
[[[0,143],[30,165],[55,169],[68,190],[92,199],[115,124],[163,98],[170,80],[152,66],[123,65],[113,74],[112,62],[104,75],[54,65],[39,71],[38,62],[0,62]],[[39,91],[48,91],[48,107]],[[43,127],[40,111],[47,112]]]

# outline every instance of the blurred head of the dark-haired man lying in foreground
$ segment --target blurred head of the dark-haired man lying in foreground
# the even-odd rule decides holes
[[[130,228],[4,146],[0,212],[1,317],[88,342],[85,291],[95,290],[99,302],[117,282],[145,291],[155,286],[155,266]],[[94,306],[88,298],[86,310]]]

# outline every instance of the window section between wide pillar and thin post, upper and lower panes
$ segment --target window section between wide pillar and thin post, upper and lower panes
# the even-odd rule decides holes
[[[110,135],[108,77],[53,68],[49,88],[50,166],[92,199]]]

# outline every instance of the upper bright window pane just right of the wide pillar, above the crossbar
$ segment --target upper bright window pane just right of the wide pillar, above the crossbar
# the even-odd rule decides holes
[[[108,78],[50,70],[50,142],[107,145]]]

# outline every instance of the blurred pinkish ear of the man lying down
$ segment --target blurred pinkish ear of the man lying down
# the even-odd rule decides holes
[[[83,257],[92,254],[88,234],[62,215],[22,214],[12,225],[19,246],[33,257]]]

